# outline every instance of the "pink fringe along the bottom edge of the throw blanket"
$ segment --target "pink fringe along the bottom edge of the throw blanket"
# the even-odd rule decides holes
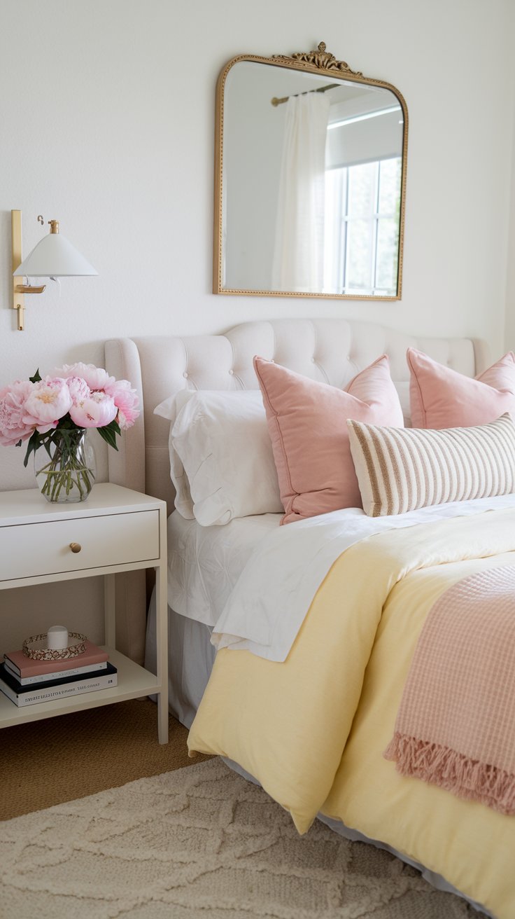
[[[402,776],[452,791],[458,798],[481,801],[495,811],[515,814],[515,775],[442,746],[395,732],[384,752]]]

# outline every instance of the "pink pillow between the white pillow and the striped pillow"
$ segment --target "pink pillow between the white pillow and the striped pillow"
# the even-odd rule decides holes
[[[272,439],[283,523],[361,507],[347,419],[403,427],[386,355],[339,390],[254,357]]]

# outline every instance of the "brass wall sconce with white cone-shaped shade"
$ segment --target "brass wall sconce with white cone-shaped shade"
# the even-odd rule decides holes
[[[39,214],[39,222],[43,218]],[[86,262],[83,255],[59,232],[59,221],[49,221],[50,233],[22,260],[21,254],[21,210],[11,210],[13,238],[13,302],[17,310],[17,328],[25,328],[25,294],[42,293],[46,285],[33,287],[24,284],[24,278],[76,278],[97,275],[95,268]]]

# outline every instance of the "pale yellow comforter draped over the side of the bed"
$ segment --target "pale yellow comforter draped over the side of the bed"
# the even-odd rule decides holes
[[[515,917],[515,818],[400,777],[392,737],[424,620],[444,590],[515,564],[515,510],[391,530],[343,552],[285,663],[218,652],[190,752],[239,763],[291,812],[340,819]]]

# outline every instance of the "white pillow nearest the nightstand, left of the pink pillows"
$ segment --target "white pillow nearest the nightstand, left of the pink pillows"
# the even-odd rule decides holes
[[[169,413],[177,413],[170,433],[170,466],[175,488],[180,486],[175,505],[180,513],[195,516],[203,527],[234,517],[283,513],[261,391],[187,392],[181,407],[182,393],[175,403],[166,400]],[[166,411],[166,403],[156,414]],[[193,502],[190,514],[186,482]]]

